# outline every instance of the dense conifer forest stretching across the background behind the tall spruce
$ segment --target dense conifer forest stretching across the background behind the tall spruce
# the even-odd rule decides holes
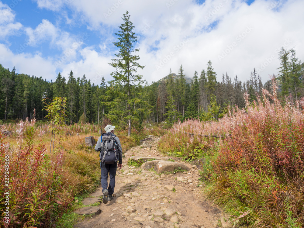
[[[303,95],[301,62],[296,58],[294,50],[283,48],[279,59],[279,94],[281,98],[289,97],[293,101],[299,99]],[[243,95],[246,92],[253,101],[261,95],[263,87],[271,91],[271,84],[266,83],[264,86],[255,69],[244,82],[237,76],[231,78],[227,73],[223,73],[221,81],[217,81],[211,61],[200,73],[194,72],[191,83],[187,83],[182,65],[177,71],[178,75],[170,69],[164,80],[150,85],[130,85],[130,97],[134,102],[133,105],[129,102],[128,107],[126,100],[119,95],[125,85],[119,87],[115,80],[106,82],[102,78],[100,84],[95,85],[85,75],[75,77],[71,71],[69,75],[59,73],[55,81],[49,82],[41,76],[18,74],[15,67],[10,71],[0,64],[0,118],[32,118],[35,109],[36,118],[43,119],[47,113],[43,110],[45,104],[42,98],[47,96],[67,98],[64,110],[67,125],[78,122],[99,124],[103,119],[109,118],[112,123],[127,127],[128,113],[124,112],[127,108],[132,109],[129,116],[132,116],[134,126],[141,126],[144,120],[168,123],[188,118],[209,120],[223,116],[228,111],[228,105],[244,107]],[[136,99],[140,102],[136,102]]]

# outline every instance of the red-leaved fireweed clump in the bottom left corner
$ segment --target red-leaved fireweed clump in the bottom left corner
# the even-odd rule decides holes
[[[8,144],[0,134],[1,174],[5,172],[3,158],[9,156],[9,224],[4,214],[0,215],[0,226],[5,227],[50,227],[56,216],[67,207],[70,199],[61,195],[61,168],[63,154],[45,154],[45,145],[34,147],[35,128],[28,126],[25,132],[26,145],[17,154],[9,152]],[[4,178],[1,180],[4,183]],[[4,184],[3,184],[4,185]],[[0,188],[3,197],[4,188]],[[0,211],[4,212],[1,201]],[[8,226],[7,226],[8,225]]]

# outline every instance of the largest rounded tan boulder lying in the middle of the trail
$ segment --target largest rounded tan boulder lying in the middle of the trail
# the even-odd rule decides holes
[[[173,161],[161,161],[161,160],[154,160],[154,161],[147,161],[141,165],[142,169],[151,169],[154,168],[154,171],[156,173],[162,173],[162,172],[173,172],[174,169],[184,169],[186,171],[189,171],[190,168],[186,166],[185,164],[181,164],[178,162]]]

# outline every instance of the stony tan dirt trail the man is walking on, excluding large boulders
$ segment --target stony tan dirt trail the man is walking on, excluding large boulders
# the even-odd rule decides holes
[[[202,192],[199,170],[186,165],[189,171],[157,174],[154,170],[128,166],[131,156],[155,157],[166,160],[157,151],[160,137],[150,136],[151,147],[133,147],[124,153],[123,168],[116,173],[114,198],[107,204],[88,206],[75,211],[91,214],[74,225],[75,228],[190,228],[231,227],[219,207],[211,206]],[[134,157],[133,157],[134,158]],[[135,157],[138,158],[138,157]],[[152,161],[151,161],[152,162]],[[162,165],[160,165],[162,166]],[[180,165],[182,166],[182,165]],[[142,166],[143,167],[143,166]],[[83,203],[102,202],[101,185]]]

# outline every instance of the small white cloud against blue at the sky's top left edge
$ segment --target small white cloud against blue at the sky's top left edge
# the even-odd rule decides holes
[[[15,13],[8,5],[0,1],[0,39],[15,35],[22,28],[22,24],[15,22]]]

